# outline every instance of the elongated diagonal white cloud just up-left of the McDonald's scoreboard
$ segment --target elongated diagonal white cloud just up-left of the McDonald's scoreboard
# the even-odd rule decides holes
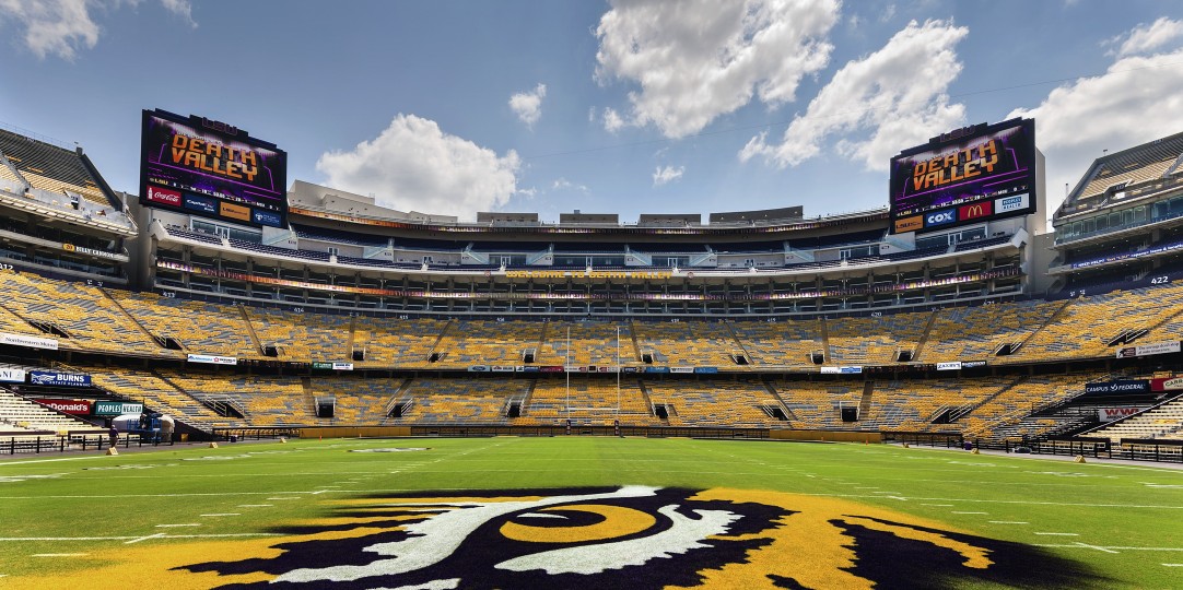
[[[945,20],[909,22],[883,48],[834,73],[778,144],[761,134],[739,158],[796,166],[819,155],[822,140],[838,136],[840,155],[870,170],[886,170],[900,147],[924,143],[964,121],[965,106],[950,104],[946,91],[962,71],[955,48],[968,33]],[[919,63],[925,65],[922,74]]]

